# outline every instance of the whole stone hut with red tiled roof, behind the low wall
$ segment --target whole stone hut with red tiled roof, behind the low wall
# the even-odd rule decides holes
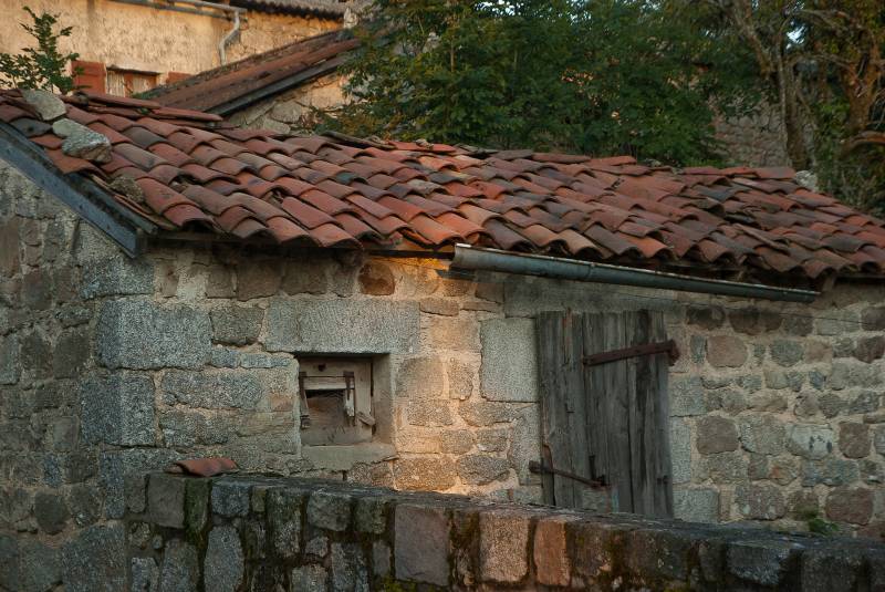
[[[35,590],[77,577],[127,488],[208,456],[593,502],[546,466],[621,509],[652,491],[648,513],[881,534],[885,228],[789,169],[85,93],[3,92],[0,135],[0,585],[13,562]],[[600,413],[625,429],[590,429],[586,401],[623,401]]]

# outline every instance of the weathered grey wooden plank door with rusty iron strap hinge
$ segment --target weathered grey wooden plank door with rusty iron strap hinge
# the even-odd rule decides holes
[[[545,312],[537,323],[545,464],[604,477],[620,511],[671,516],[667,354],[584,364],[587,355],[666,341],[663,314]],[[582,507],[585,484],[558,474],[543,482],[548,502]]]

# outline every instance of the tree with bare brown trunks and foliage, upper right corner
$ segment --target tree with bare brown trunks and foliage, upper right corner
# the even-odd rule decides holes
[[[815,172],[843,200],[885,212],[885,3],[706,0],[701,8],[711,10],[704,34],[752,50],[793,166]]]

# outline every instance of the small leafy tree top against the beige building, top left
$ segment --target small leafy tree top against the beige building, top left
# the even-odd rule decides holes
[[[17,55],[0,53],[0,83],[18,89],[58,90],[63,94],[73,91],[74,80],[67,74],[67,64],[77,54],[59,50],[59,40],[70,37],[72,29],[64,27],[56,31],[58,14],[37,14],[29,7],[24,11],[33,22],[21,25],[37,40],[37,48],[22,48]]]

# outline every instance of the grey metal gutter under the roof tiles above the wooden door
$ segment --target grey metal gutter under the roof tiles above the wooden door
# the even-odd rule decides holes
[[[469,245],[456,245],[450,269],[452,271],[499,271],[542,278],[658,288],[662,290],[678,290],[735,298],[759,298],[783,302],[808,303],[813,302],[820,295],[820,292],[812,290],[778,288],[761,283],[708,280],[678,273],[593,263],[543,255],[513,253],[498,249],[471,247]]]

